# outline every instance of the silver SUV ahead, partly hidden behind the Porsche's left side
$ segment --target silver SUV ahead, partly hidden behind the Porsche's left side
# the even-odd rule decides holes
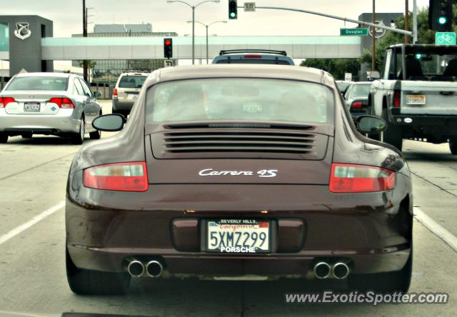
[[[131,107],[134,106],[141,86],[148,76],[149,73],[141,71],[128,71],[119,76],[113,91],[113,114],[130,114]]]

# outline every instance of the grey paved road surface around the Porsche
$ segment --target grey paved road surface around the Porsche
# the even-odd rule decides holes
[[[104,101],[104,113],[110,109],[109,101]],[[415,206],[441,226],[448,237],[455,238],[457,157],[451,156],[446,144],[406,141],[405,148],[413,172]],[[66,139],[51,136],[16,136],[0,145],[0,315],[61,316],[64,312],[83,312],[139,316],[457,316],[457,253],[442,236],[419,221],[414,223],[410,291],[449,293],[450,300],[445,305],[284,303],[284,293],[345,287],[343,282],[316,281],[141,278],[132,281],[126,296],[76,296],[66,283],[64,208],[59,203],[64,201],[66,176],[78,149]],[[54,206],[57,211],[52,213],[50,208]],[[50,215],[36,218],[44,211]],[[20,230],[24,231],[14,236]]]

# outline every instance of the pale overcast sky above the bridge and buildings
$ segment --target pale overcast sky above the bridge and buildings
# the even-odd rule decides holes
[[[187,0],[198,4],[201,0]],[[228,19],[228,2],[206,3],[196,9],[196,20],[209,24]],[[244,1],[238,0],[238,5]],[[377,0],[378,12],[403,12],[403,0]],[[412,11],[412,2],[410,0]],[[428,0],[417,0],[418,6],[428,5]],[[357,19],[363,12],[371,11],[371,0],[258,0],[257,6],[285,6],[295,9],[321,11]],[[93,7],[89,21],[96,24],[151,23],[153,31],[176,31],[179,35],[191,34],[191,9],[184,4],[167,4],[166,0],[86,0]],[[36,14],[54,21],[54,37],[81,33],[81,0],[0,0],[1,15]],[[89,24],[92,31],[94,24]],[[243,12],[238,9],[238,19],[227,24],[214,24],[210,34],[224,35],[339,35],[343,21],[326,19],[296,12],[258,9]],[[356,24],[346,23],[347,27]],[[204,36],[204,26],[196,25],[196,35]]]

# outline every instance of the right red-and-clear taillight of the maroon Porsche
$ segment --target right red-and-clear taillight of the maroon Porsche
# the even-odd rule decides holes
[[[388,191],[395,188],[395,172],[376,166],[333,163],[329,188],[333,193]]]

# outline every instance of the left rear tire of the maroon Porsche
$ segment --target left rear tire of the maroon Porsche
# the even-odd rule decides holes
[[[111,273],[77,268],[66,248],[66,278],[71,291],[79,295],[122,295],[130,285],[128,273]]]

